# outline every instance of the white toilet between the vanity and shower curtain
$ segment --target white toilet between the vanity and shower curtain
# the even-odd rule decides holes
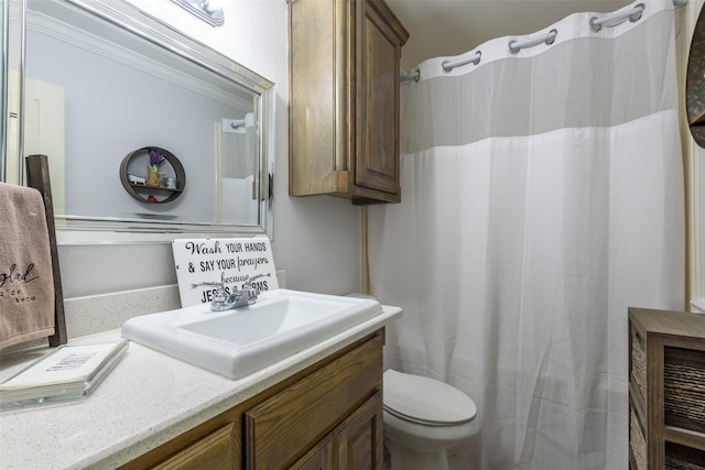
[[[446,383],[392,369],[383,383],[391,470],[447,470],[446,449],[479,430],[473,400]]]

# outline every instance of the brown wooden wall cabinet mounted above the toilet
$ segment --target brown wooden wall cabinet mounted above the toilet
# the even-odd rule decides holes
[[[290,0],[289,189],[399,203],[409,33],[381,0]]]

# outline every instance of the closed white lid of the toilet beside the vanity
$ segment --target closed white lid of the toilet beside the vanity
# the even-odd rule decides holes
[[[477,414],[473,400],[459,390],[425,376],[389,369],[384,372],[384,409],[412,423],[465,424]]]

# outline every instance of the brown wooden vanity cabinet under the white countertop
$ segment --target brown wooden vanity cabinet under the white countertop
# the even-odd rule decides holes
[[[381,469],[383,330],[124,469]]]

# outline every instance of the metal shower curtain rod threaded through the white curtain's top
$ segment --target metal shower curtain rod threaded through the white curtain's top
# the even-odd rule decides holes
[[[684,4],[687,3],[687,0],[673,0],[673,6],[675,7],[682,7]],[[589,21],[589,25],[590,29],[595,32],[598,32],[599,30],[603,29],[603,26],[607,26],[607,28],[612,28],[616,26],[617,24],[620,24],[621,22],[626,21],[627,19],[629,19],[629,21],[631,22],[636,22],[639,21],[639,19],[641,18],[641,14],[643,13],[643,10],[646,9],[646,6],[643,3],[639,3],[637,4],[634,8],[629,9],[629,10],[623,10],[623,11],[619,11],[616,13],[609,13],[606,14],[604,17],[593,17],[590,18]],[[534,37],[529,37],[527,40],[523,41],[510,41],[508,46],[509,46],[509,51],[512,54],[517,54],[520,50],[525,48],[525,47],[533,47],[535,45],[539,45],[541,43],[545,43],[546,45],[551,45],[553,44],[553,42],[555,41],[555,37],[558,35],[558,31],[557,30],[551,30],[550,32],[547,32],[546,34],[541,34],[539,36],[534,36]],[[476,52],[475,54],[473,54],[469,57],[464,57],[464,58],[458,58],[456,61],[443,61],[443,63],[441,64],[441,66],[443,67],[443,69],[445,72],[451,72],[453,70],[455,67],[460,67],[463,65],[467,65],[469,63],[473,63],[475,65],[480,63],[480,59],[482,58],[482,53],[480,51]],[[401,83],[406,83],[406,81],[419,81],[419,79],[421,78],[421,70],[420,69],[414,69],[412,72],[408,72],[405,74],[402,74],[400,76],[400,81]]]

